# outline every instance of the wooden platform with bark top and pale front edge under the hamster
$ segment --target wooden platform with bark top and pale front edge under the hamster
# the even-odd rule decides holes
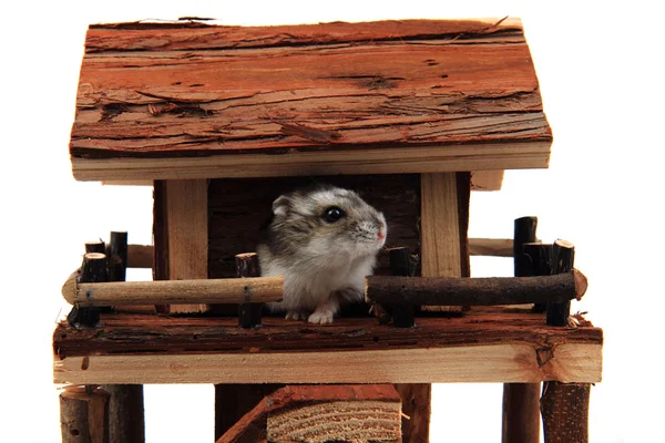
[[[474,308],[417,327],[340,318],[314,326],[277,317],[242,330],[236,318],[102,315],[54,332],[59,383],[600,382],[603,336],[591,324]],[[585,323],[583,323],[585,324]]]

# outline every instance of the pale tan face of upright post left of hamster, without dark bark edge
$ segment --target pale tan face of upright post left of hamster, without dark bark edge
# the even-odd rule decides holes
[[[207,278],[207,181],[164,183],[168,279]],[[206,305],[171,305],[171,313],[203,312]]]

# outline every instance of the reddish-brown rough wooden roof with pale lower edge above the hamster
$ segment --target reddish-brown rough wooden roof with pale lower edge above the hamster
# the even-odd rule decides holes
[[[516,20],[90,27],[83,181],[546,167]]]

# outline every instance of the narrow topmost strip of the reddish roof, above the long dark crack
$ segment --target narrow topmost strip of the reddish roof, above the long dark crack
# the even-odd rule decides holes
[[[464,35],[460,35],[466,33]],[[86,35],[86,52],[103,51],[191,51],[252,49],[307,44],[358,44],[405,42],[427,35],[451,44],[523,41],[522,23],[516,18],[474,20],[387,20],[345,23],[270,27],[211,27],[201,22],[130,22],[92,24]],[[427,41],[423,39],[423,41]],[[423,43],[424,44],[424,43]]]

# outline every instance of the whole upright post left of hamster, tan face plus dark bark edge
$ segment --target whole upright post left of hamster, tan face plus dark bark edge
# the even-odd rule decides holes
[[[207,181],[155,181],[155,279],[207,278]],[[171,313],[203,312],[206,305],[171,305]]]

